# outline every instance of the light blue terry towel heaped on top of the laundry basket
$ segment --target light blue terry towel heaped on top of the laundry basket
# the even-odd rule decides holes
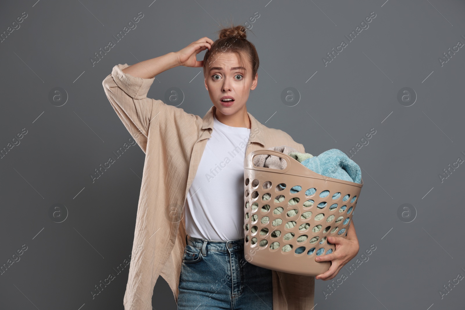
[[[326,152],[307,158],[301,162],[308,169],[330,178],[337,178],[349,182],[359,183],[362,179],[362,171],[352,159],[338,149],[331,149]],[[296,185],[291,192],[299,192],[302,187]]]

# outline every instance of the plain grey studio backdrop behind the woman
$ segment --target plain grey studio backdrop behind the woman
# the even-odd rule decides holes
[[[464,1],[33,0],[0,7],[1,33],[28,14],[0,43],[0,149],[27,129],[0,159],[0,265],[27,245],[0,276],[1,309],[123,309],[129,266],[120,274],[114,268],[131,254],[144,153],[130,147],[92,183],[94,169],[131,138],[101,82],[116,64],[176,52],[204,36],[216,40],[218,23],[230,18],[248,21],[254,32],[248,39],[261,66],[247,109],[261,123],[314,156],[348,152],[376,130],[352,157],[364,186],[354,216],[360,251],[346,267],[372,244],[376,250],[352,274],[343,268],[333,280],[342,272],[347,278],[326,298],[332,280],[316,280],[314,309],[463,309],[463,280],[442,298],[439,290],[465,275],[465,167],[443,182],[438,174],[465,159],[465,50],[443,66],[438,57],[465,43]],[[92,66],[94,53],[139,12],[137,27]],[[325,66],[322,57],[371,12],[369,28]],[[212,102],[199,72],[161,73],[148,97],[163,99],[179,87],[179,107],[203,117]],[[405,86],[418,96],[412,106],[397,100]],[[65,105],[49,101],[54,87],[66,90]],[[286,87],[298,90],[296,106],[281,101]],[[57,203],[68,212],[61,223],[49,216]],[[410,223],[398,216],[402,204],[414,207]],[[110,273],[115,279],[93,299]],[[162,277],[153,309],[176,309]]]

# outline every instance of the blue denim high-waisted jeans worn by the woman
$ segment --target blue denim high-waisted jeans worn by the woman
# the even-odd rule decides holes
[[[186,236],[178,310],[272,310],[272,270],[244,258],[244,239]]]

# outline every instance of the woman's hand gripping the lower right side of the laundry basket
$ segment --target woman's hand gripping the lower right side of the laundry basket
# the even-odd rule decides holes
[[[359,252],[359,239],[357,239],[353,222],[349,226],[346,238],[328,237],[328,241],[336,245],[336,250],[330,254],[315,257],[317,262],[331,261],[329,270],[315,277],[315,279],[322,279],[323,281],[336,277],[339,270]]]

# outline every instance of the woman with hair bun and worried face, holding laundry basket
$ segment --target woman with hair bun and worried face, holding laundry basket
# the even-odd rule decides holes
[[[312,309],[315,277],[268,270],[244,257],[243,161],[257,149],[287,145],[286,132],[246,110],[259,58],[243,26],[225,28],[176,53],[113,67],[103,81],[110,103],[146,153],[126,310],[149,310],[159,275],[178,309]],[[207,52],[203,61],[196,55]],[[203,118],[146,98],[155,76],[175,66],[203,67],[213,106]],[[213,138],[213,139],[211,139]],[[183,193],[184,195],[181,195]],[[355,228],[337,237],[324,280],[359,250]]]

